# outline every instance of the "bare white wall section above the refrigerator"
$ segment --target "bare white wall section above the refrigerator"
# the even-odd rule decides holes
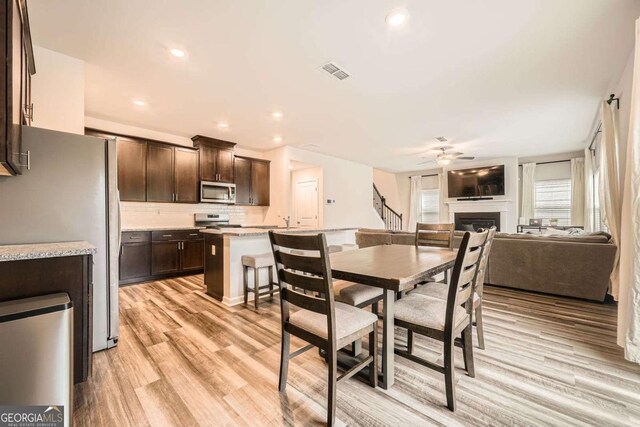
[[[84,61],[33,47],[33,126],[84,134]]]

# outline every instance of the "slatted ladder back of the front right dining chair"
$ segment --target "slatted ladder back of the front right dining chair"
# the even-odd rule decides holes
[[[453,266],[449,293],[447,295],[447,310],[445,317],[445,333],[452,333],[455,309],[464,305],[471,313],[473,286],[478,273],[478,266],[482,258],[482,248],[489,232],[464,233],[458,255]]]

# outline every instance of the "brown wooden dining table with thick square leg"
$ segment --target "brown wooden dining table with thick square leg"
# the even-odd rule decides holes
[[[452,268],[456,253],[456,250],[424,246],[383,245],[330,255],[334,279],[384,290],[382,374],[379,382],[382,388],[388,389],[394,382],[394,304],[397,293]]]

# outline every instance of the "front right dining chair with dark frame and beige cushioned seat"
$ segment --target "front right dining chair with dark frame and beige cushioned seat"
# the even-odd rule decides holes
[[[395,325],[407,329],[407,349],[395,348],[397,355],[444,374],[447,407],[455,411],[454,346],[461,338],[464,367],[475,377],[472,344],[473,283],[478,272],[482,245],[488,231],[466,232],[453,266],[447,299],[409,293],[395,305]],[[426,285],[426,286],[430,286]],[[444,364],[437,365],[413,354],[413,334],[424,335],[444,344]]]

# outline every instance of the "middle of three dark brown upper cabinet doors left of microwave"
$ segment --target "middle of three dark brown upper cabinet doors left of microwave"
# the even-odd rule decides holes
[[[170,145],[147,145],[147,202],[173,202],[174,178],[171,173],[174,148]]]

